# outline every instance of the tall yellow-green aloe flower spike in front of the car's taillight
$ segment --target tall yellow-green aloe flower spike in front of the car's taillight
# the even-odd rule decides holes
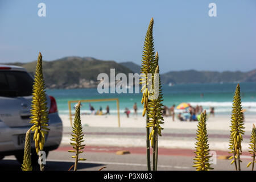
[[[48,111],[46,102],[46,86],[43,78],[43,65],[42,65],[42,55],[39,52],[38,62],[36,64],[35,80],[32,91],[32,104],[31,104],[31,114],[32,116],[30,123],[33,124],[31,131],[34,133],[35,149],[36,153],[39,155],[43,150],[45,138],[48,129]],[[40,170],[44,170],[42,160],[40,163]]]

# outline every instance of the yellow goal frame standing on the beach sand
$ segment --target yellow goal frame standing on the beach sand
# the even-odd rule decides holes
[[[78,102],[104,102],[104,101],[116,101],[117,102],[117,118],[118,118],[118,127],[120,127],[120,113],[119,113],[119,99],[118,98],[102,98],[102,99],[92,99],[92,100],[76,100],[76,101],[68,101],[68,109],[69,109],[69,119],[70,125],[72,127],[72,112],[71,112],[71,103]]]

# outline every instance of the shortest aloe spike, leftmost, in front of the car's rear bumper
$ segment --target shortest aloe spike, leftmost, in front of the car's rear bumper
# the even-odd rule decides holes
[[[22,168],[22,171],[32,171],[30,129],[26,133],[25,146],[24,146],[24,156],[23,156],[23,163],[22,163],[21,168]]]

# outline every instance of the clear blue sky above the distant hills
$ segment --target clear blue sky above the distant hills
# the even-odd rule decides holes
[[[38,4],[46,4],[46,17]],[[209,17],[209,3],[217,17]],[[0,1],[0,63],[90,56],[141,64],[154,17],[160,71],[256,68],[255,0]]]

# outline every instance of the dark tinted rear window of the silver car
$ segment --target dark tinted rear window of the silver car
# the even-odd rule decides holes
[[[31,96],[32,85],[33,79],[27,72],[0,71],[0,96]]]

